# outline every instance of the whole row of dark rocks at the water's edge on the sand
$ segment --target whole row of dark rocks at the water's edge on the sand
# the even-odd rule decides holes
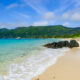
[[[76,40],[70,40],[70,41],[59,41],[59,42],[53,42],[44,45],[47,48],[62,48],[62,47],[79,47],[79,43]]]

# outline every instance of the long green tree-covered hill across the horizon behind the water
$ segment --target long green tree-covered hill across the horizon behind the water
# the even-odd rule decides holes
[[[80,37],[80,28],[56,26],[30,26],[0,29],[0,38],[69,38]]]

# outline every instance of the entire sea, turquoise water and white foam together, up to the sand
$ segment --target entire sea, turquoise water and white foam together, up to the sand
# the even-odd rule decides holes
[[[69,50],[43,47],[54,41],[60,39],[0,39],[0,80],[32,80],[44,72]]]

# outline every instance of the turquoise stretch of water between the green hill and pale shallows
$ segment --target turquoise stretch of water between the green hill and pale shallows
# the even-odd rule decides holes
[[[0,62],[9,61],[19,56],[30,54],[42,45],[56,39],[0,39]]]

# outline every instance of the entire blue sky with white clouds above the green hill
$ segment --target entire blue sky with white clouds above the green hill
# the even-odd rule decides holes
[[[80,27],[80,0],[0,0],[0,28]]]

